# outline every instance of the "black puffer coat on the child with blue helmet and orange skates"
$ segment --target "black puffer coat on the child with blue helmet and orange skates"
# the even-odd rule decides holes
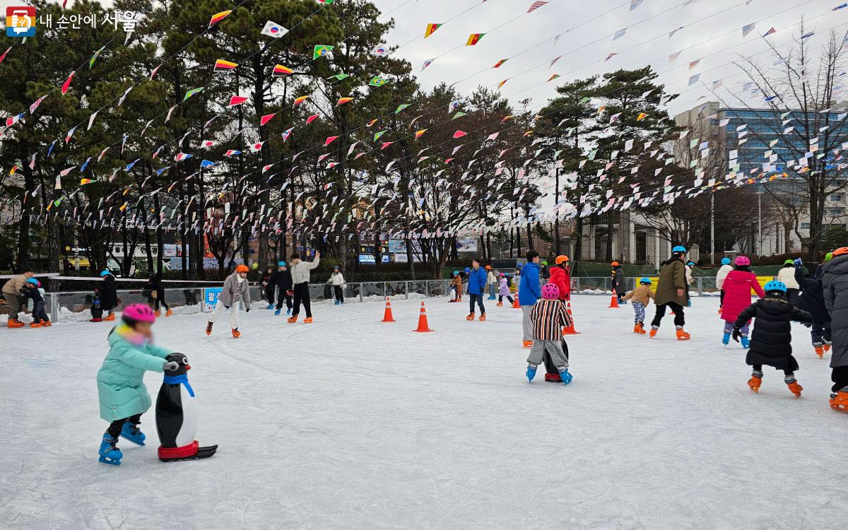
[[[797,370],[798,363],[792,357],[790,322],[812,322],[812,315],[796,308],[782,296],[767,294],[766,298],[760,298],[739,313],[734,326],[745,326],[745,322],[751,318],[756,320],[754,331],[750,334],[748,364],[769,365],[778,370]]]

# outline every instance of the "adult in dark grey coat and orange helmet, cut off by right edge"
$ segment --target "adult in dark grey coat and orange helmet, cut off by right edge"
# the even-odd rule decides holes
[[[830,355],[833,369],[830,378],[834,382],[830,406],[848,412],[848,247],[834,250],[823,271],[824,304],[830,312],[834,337]]]

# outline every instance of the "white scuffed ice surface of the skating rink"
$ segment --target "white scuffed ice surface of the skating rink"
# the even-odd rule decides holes
[[[235,340],[204,315],[161,319],[187,354],[209,460],[164,464],[106,424],[95,376],[109,323],[0,329],[3,528],[835,528],[848,520],[848,417],[828,408],[828,360],[795,326],[795,399],[767,369],[759,395],[717,301],[688,309],[692,340],[632,333],[629,305],[573,302],[574,382],[524,378],[521,311],[427,300],[321,304],[315,323],[243,315]],[[653,308],[649,314],[653,315]],[[149,373],[155,399],[161,375]]]

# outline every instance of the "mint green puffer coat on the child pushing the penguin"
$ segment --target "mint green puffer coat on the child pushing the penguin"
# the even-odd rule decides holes
[[[109,333],[109,354],[98,371],[100,417],[111,422],[147,412],[150,394],[144,386],[144,372],[162,372],[165,357],[171,353],[126,324],[116,326]]]

